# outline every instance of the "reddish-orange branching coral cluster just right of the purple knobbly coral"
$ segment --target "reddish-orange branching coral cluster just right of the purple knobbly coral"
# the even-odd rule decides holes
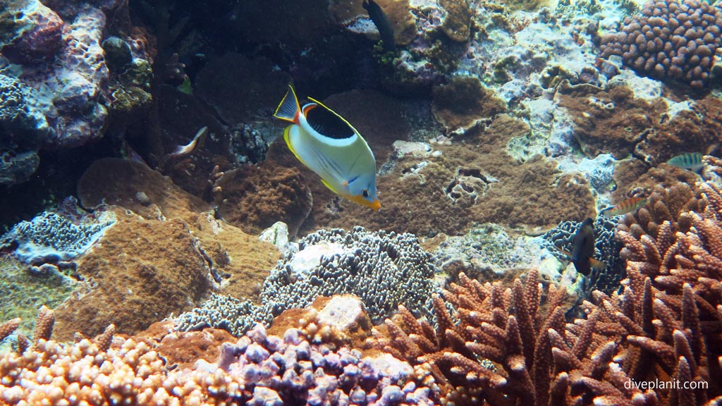
[[[541,306],[541,297],[547,297]],[[404,308],[386,320],[388,337],[375,332],[373,344],[410,363],[429,363],[456,404],[547,405],[554,358],[552,348],[565,333],[565,292],[543,292],[536,270],[525,282],[504,289],[496,282],[482,285],[463,273],[444,292],[456,308],[454,322],[440,297],[434,298],[438,327],[416,321]],[[547,332],[554,332],[547,334]],[[555,334],[555,335],[554,335]],[[589,331],[581,334],[572,354],[586,353]],[[565,345],[565,347],[567,347]],[[575,358],[575,355],[571,355]],[[578,363],[578,360],[577,360]],[[552,390],[552,397],[554,391]]]

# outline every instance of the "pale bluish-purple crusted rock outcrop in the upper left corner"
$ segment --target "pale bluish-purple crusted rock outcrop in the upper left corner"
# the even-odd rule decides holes
[[[27,181],[38,168],[41,147],[78,147],[102,138],[114,102],[119,111],[148,105],[149,89],[142,86],[147,83],[118,82],[101,46],[106,30],[123,25],[108,22],[106,13],[127,15],[127,2],[65,3],[11,1],[0,12],[0,86],[12,95],[0,104],[4,184]],[[135,46],[127,33],[136,32],[127,25],[123,39],[131,42],[132,64],[150,74],[151,50]]]

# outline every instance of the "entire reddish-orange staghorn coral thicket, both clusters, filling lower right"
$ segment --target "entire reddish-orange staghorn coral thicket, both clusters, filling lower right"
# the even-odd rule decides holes
[[[722,195],[710,183],[697,199],[684,187],[666,194],[676,197],[660,192],[651,212],[638,213],[653,236],[631,220],[633,228],[619,231],[624,290],[595,291],[593,303],[583,303],[586,318],[565,322],[563,297],[539,288],[536,272],[506,290],[463,276],[444,293],[458,322],[439,312],[440,329],[430,332],[401,309],[375,345],[412,364],[430,363],[445,379],[449,403],[719,405]],[[443,309],[440,298],[435,308]],[[635,386],[642,382],[664,387]]]

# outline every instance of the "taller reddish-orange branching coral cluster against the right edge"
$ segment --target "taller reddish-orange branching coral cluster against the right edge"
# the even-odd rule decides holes
[[[696,212],[683,212],[682,199],[658,201],[650,233],[620,227],[625,291],[588,303],[626,330],[617,338],[619,371],[638,382],[682,383],[656,391],[672,405],[702,405],[722,393],[722,196],[711,183],[702,183],[697,195]],[[690,390],[691,382],[707,386]]]

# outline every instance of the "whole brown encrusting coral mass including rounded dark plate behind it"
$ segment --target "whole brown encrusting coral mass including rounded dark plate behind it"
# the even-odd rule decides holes
[[[77,260],[83,282],[56,308],[56,336],[63,340],[77,331],[99,334],[110,323],[133,334],[211,290],[254,299],[279,256],[271,244],[214,219],[209,204],[142,163],[98,160],[78,192],[84,207],[113,210],[117,221]]]

